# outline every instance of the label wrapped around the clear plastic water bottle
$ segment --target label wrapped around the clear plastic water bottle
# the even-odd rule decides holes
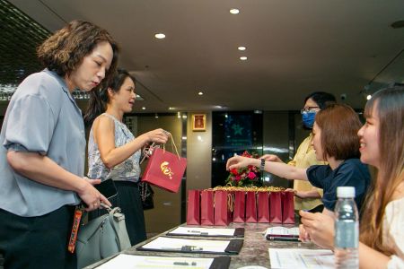
[[[359,225],[357,221],[336,221],[335,247],[358,247]]]

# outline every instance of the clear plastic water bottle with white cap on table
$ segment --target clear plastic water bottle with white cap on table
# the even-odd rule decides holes
[[[338,187],[335,206],[335,267],[359,268],[359,218],[354,200],[355,187]]]

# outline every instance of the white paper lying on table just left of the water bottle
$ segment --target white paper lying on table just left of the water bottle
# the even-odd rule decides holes
[[[272,269],[333,269],[334,254],[329,249],[268,248]]]

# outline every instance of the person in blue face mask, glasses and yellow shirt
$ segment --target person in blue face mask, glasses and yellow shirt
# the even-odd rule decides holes
[[[303,127],[312,130],[314,118],[318,111],[326,108],[330,103],[335,103],[335,97],[323,91],[315,91],[304,99],[304,106],[301,110]],[[324,161],[317,161],[316,154],[312,147],[312,133],[299,145],[294,160],[289,165],[297,168],[308,168],[315,164],[326,164]],[[322,189],[312,187],[309,181],[294,180],[294,209],[307,210],[310,212],[322,212],[324,206],[321,203]]]

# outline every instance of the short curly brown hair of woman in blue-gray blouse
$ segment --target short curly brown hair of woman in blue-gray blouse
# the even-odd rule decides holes
[[[119,47],[107,30],[92,22],[73,21],[63,29],[57,30],[37,48],[42,65],[60,76],[70,74],[81,65],[84,56],[92,53],[98,43],[107,41],[112,47],[113,57],[110,69],[105,74],[105,81],[115,73],[118,65]]]

